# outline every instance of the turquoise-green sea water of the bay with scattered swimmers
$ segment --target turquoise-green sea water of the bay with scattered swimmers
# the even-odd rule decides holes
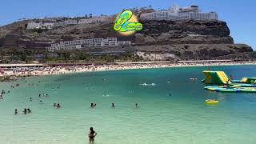
[[[204,90],[200,79],[204,78],[205,69],[124,70],[26,78],[19,80],[20,86],[14,89],[10,86],[15,82],[1,83],[1,90],[10,90],[10,94],[0,101],[0,143],[88,143],[90,126],[98,133],[94,142],[98,144],[256,143],[256,94]],[[234,78],[256,75],[256,66],[213,69],[225,70]],[[191,81],[192,77],[198,80]],[[142,83],[155,86],[139,85]],[[50,96],[38,98],[40,93]],[[29,102],[30,97],[33,102]],[[208,98],[220,102],[206,106]],[[62,108],[54,108],[54,102],[61,103]],[[91,109],[91,102],[96,102],[97,107]],[[114,109],[110,107],[112,102]],[[24,108],[30,108],[32,113],[22,114]],[[14,115],[14,109],[18,109],[18,115]]]

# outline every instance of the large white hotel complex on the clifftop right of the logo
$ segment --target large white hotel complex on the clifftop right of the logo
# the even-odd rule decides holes
[[[159,10],[141,15],[142,20],[218,20],[215,12],[202,13],[198,6],[187,6],[179,8],[172,6],[169,10]]]

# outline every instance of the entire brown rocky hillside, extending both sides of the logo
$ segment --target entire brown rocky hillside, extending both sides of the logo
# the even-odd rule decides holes
[[[0,27],[0,47],[23,47],[45,50],[59,41],[82,38],[117,37],[130,40],[137,51],[173,55],[179,59],[228,58],[229,54],[252,52],[247,45],[234,44],[226,22],[219,21],[142,21],[143,30],[124,37],[113,30],[114,18],[109,22],[66,26],[40,33],[26,30],[26,22]]]

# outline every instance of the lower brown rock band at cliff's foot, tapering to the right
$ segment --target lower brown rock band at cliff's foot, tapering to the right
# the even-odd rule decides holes
[[[234,58],[228,55],[252,51],[250,46],[244,44],[174,44],[136,46],[135,48],[146,54],[174,54],[175,58],[182,60]]]

